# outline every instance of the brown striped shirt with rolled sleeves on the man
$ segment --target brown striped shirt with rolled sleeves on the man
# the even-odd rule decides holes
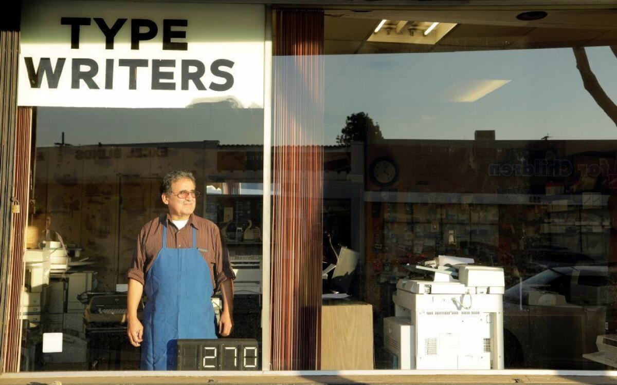
[[[163,221],[167,221],[168,248],[193,247],[193,227],[197,230],[197,248],[202,249],[199,252],[210,264],[210,278],[214,291],[217,291],[220,284],[226,280],[236,278],[231,270],[229,253],[221,240],[217,225],[195,214],[191,214],[189,221],[180,230],[173,224],[169,214],[147,222],[139,232],[133,262],[126,274],[127,278],[133,278],[144,284],[144,277],[162,248]]]

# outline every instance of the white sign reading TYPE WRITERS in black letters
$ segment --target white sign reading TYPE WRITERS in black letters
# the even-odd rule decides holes
[[[19,105],[263,108],[265,9],[26,1]]]

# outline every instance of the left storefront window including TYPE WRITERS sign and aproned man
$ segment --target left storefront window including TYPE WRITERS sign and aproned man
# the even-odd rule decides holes
[[[21,370],[259,369],[263,7],[28,2],[23,14],[35,139]],[[225,18],[244,28],[223,32]]]

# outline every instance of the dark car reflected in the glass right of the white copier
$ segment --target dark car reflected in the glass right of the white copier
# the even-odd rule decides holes
[[[506,368],[601,370],[584,359],[614,304],[607,265],[560,265],[519,277],[503,294]]]

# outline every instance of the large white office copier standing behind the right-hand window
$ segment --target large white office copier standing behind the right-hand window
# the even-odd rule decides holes
[[[439,256],[416,270],[433,281],[402,279],[384,319],[384,346],[400,369],[503,369],[503,269]]]

